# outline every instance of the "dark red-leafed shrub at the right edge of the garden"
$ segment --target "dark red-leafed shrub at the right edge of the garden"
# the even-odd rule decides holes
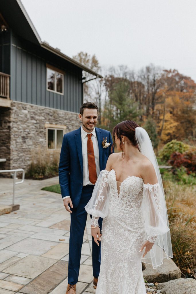
[[[190,149],[185,153],[174,152],[170,156],[169,164],[173,167],[173,173],[176,169],[184,166],[186,168],[187,174],[196,172],[196,150]]]

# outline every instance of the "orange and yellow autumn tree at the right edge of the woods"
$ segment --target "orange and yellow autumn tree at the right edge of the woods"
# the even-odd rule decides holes
[[[177,70],[164,70],[155,120],[163,143],[195,136],[196,83]]]

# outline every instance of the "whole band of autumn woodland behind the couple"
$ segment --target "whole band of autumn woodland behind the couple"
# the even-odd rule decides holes
[[[94,71],[101,70],[95,55],[80,52],[73,58]],[[140,71],[111,67],[104,78],[83,86],[84,101],[100,108],[98,124],[103,128],[112,130],[116,123],[133,119],[148,128],[155,146],[158,141],[163,145],[172,139],[195,140],[196,83],[177,70],[153,64]]]

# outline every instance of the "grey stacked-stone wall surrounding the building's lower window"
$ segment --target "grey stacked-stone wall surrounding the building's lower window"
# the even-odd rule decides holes
[[[32,161],[32,151],[47,150],[45,123],[66,126],[65,133],[81,126],[78,113],[11,102],[10,168],[27,169]]]

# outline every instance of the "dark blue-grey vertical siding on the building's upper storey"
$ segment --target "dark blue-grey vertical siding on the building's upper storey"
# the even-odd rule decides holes
[[[82,70],[38,46],[11,35],[11,85],[13,100],[79,112],[82,104]],[[46,51],[46,50],[45,50]],[[46,63],[63,70],[64,94],[46,89]]]

